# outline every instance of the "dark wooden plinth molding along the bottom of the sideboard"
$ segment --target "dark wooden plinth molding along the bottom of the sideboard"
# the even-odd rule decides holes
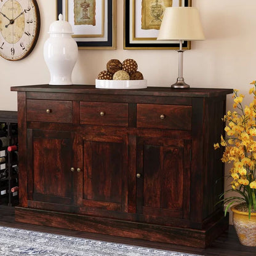
[[[149,243],[154,241],[201,248],[209,246],[215,238],[228,229],[228,216],[210,223],[205,230],[194,230],[25,207],[15,207],[15,221],[123,238],[142,239]]]

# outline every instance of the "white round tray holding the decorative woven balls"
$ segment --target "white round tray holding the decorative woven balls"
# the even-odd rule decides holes
[[[143,89],[146,80],[101,80],[95,79],[95,87],[101,89]]]

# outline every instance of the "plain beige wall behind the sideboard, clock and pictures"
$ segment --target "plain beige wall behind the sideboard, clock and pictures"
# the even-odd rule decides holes
[[[74,67],[75,84],[94,84],[111,58],[134,58],[148,86],[169,86],[177,78],[178,54],[175,50],[123,50],[123,7],[118,2],[117,50],[79,50]],[[43,47],[50,23],[56,19],[56,1],[38,0],[41,33],[33,52],[24,60],[9,62],[0,58],[0,110],[17,110],[17,94],[10,86],[47,84],[49,71]],[[193,0],[198,7],[206,41],[192,43],[185,52],[184,77],[191,87],[236,88],[246,94],[249,82],[256,79],[256,1]],[[231,108],[231,96],[228,97]]]

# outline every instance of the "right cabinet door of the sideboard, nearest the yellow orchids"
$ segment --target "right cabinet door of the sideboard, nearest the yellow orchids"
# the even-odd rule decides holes
[[[138,214],[188,218],[190,145],[190,140],[138,138]]]

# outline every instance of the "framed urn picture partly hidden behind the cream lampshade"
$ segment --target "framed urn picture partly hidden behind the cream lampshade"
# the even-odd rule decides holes
[[[191,0],[124,0],[124,49],[179,49],[177,41],[157,41],[164,9],[170,6],[191,6]],[[190,49],[190,41],[183,41]]]

